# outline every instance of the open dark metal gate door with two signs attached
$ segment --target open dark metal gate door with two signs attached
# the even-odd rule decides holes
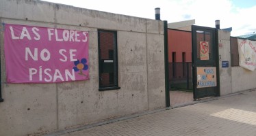
[[[192,83],[194,100],[219,92],[218,30],[192,26]]]

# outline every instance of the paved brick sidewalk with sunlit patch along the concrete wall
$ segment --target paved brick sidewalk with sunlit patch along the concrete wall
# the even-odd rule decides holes
[[[256,91],[164,110],[61,136],[256,136]]]

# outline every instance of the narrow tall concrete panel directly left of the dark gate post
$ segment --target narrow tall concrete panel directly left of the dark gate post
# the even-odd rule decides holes
[[[147,35],[149,109],[165,106],[163,39],[163,35]]]

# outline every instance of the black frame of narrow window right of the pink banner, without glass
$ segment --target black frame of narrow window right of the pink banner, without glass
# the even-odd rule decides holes
[[[102,86],[101,85],[101,73],[103,70],[103,65],[102,65],[102,61],[103,59],[101,59],[101,37],[100,34],[101,33],[113,33],[114,34],[114,54],[113,56],[113,65],[114,65],[114,84],[112,86]],[[103,29],[98,29],[98,54],[99,54],[99,91],[103,91],[103,90],[118,90],[120,89],[120,87],[118,86],[118,43],[117,43],[117,31],[111,31],[111,30],[103,30]]]

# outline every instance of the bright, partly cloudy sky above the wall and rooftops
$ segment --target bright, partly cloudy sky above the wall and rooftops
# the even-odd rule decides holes
[[[161,20],[168,23],[196,20],[195,25],[220,29],[232,27],[231,36],[256,33],[256,0],[44,0],[90,10],[155,19],[159,7]]]

